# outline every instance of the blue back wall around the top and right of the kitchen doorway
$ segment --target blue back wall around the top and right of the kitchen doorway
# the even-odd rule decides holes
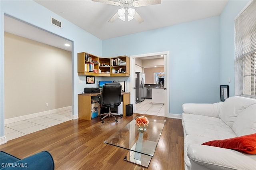
[[[103,55],[170,51],[169,113],[181,114],[183,103],[220,101],[219,23],[216,16],[103,40]]]

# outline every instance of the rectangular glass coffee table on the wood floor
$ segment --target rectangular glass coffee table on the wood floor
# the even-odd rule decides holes
[[[104,143],[129,150],[124,160],[148,168],[166,122],[157,119],[148,120],[149,124],[145,126],[144,132],[138,131],[139,127],[134,119]]]

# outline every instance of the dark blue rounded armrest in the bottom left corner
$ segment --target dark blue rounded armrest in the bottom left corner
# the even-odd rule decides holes
[[[49,152],[42,151],[1,166],[4,166],[1,170],[54,170],[54,160]]]

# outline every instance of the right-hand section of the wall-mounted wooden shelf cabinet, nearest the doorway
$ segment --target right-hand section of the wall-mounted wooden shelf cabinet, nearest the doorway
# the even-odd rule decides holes
[[[116,73],[110,72],[110,76],[129,76],[130,75],[130,58],[119,56],[110,58],[111,70],[115,69]]]

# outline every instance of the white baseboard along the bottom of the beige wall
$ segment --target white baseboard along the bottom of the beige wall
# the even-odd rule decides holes
[[[30,115],[24,115],[24,116],[14,117],[14,118],[10,118],[10,119],[4,119],[4,125],[6,125],[8,123],[14,123],[14,122],[23,121],[26,119],[31,119],[31,118],[38,117],[38,116],[44,116],[44,115],[48,115],[48,114],[52,114],[52,113],[56,113],[56,112],[60,112],[60,111],[65,111],[68,109],[72,109],[72,106],[62,107],[59,109],[53,109],[50,111],[43,111],[43,112],[39,112],[39,113],[33,113]]]

